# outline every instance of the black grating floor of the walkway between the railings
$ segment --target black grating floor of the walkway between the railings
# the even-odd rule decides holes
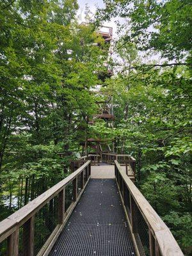
[[[113,179],[91,179],[49,256],[133,256]]]

